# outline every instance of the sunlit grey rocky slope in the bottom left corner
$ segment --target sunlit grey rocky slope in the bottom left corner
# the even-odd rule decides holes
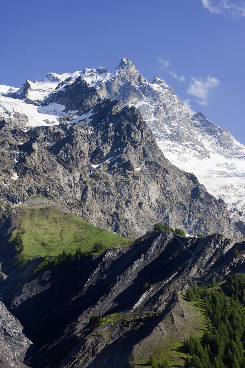
[[[3,368],[25,368],[24,361],[33,354],[33,344],[24,335],[18,319],[0,301],[0,365]]]

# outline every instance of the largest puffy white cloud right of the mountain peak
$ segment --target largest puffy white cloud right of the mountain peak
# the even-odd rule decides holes
[[[187,88],[188,95],[193,95],[198,98],[202,98],[202,101],[197,101],[201,105],[207,105],[206,99],[209,98],[209,93],[217,87],[220,84],[219,79],[215,77],[210,77],[208,75],[208,78],[194,78],[191,77],[192,81],[189,84],[189,87]]]

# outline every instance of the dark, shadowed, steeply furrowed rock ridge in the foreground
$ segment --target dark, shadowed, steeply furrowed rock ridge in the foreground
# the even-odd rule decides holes
[[[235,259],[234,248],[240,251]],[[31,367],[130,367],[133,346],[150,336],[177,304],[181,307],[180,291],[244,272],[244,259],[244,243],[217,234],[187,239],[162,231],[129,247],[109,248],[98,258],[46,271],[35,280],[23,279],[21,293],[14,292],[21,280],[17,275],[3,297],[40,348],[28,360]],[[149,286],[144,289],[145,283]],[[96,328],[99,336],[88,326],[91,315],[119,312],[117,322]],[[147,318],[148,312],[155,317]],[[181,309],[179,313],[184,316]]]

